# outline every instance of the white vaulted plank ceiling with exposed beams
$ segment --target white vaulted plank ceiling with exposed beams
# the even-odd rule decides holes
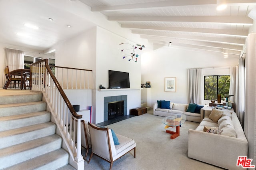
[[[216,0],[80,1],[149,42],[228,51],[230,57],[243,51],[256,6],[256,0],[226,0],[227,8],[218,11]]]

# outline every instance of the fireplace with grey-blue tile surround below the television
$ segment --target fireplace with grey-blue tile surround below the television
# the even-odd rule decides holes
[[[104,121],[125,115],[127,115],[127,95],[104,97]]]

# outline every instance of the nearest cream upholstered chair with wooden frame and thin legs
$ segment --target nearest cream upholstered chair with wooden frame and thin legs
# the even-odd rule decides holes
[[[111,170],[113,162],[131,150],[134,150],[134,158],[136,157],[136,143],[133,139],[116,134],[119,144],[115,145],[110,128],[100,128],[91,123],[88,123],[88,125],[92,143],[92,154],[88,163],[92,156],[96,155],[109,162],[109,169]]]

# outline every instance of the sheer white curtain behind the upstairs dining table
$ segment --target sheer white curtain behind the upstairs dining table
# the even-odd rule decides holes
[[[8,65],[10,71],[15,69],[24,69],[24,51],[6,48],[4,64],[4,67]],[[6,77],[3,75],[3,86],[5,82]]]

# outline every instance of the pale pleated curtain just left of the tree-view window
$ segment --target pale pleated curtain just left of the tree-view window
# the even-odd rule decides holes
[[[188,101],[201,104],[201,69],[188,69]]]

